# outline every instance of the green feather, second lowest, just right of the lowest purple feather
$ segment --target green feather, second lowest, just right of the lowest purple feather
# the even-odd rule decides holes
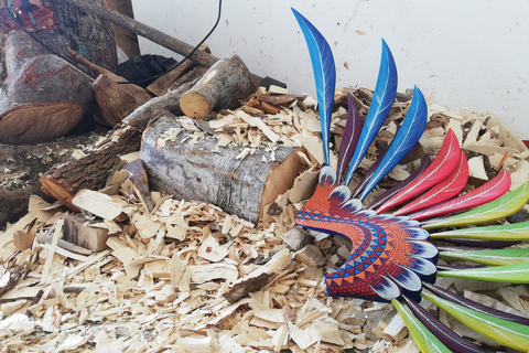
[[[421,296],[487,339],[523,352],[529,347],[529,327],[527,325],[479,313],[425,291]]]

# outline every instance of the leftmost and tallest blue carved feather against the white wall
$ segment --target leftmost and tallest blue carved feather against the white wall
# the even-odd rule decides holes
[[[320,124],[322,125],[323,152],[325,163],[330,163],[328,131],[331,129],[331,115],[334,104],[334,88],[336,85],[336,67],[327,41],[322,33],[309,22],[301,13],[292,9],[301,31],[305,36],[311,55],[312,69],[316,82],[317,105],[320,109]]]

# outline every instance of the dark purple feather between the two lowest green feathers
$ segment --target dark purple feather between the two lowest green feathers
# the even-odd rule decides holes
[[[421,306],[419,306],[413,300],[410,300],[406,296],[404,298],[406,304],[410,308],[411,312],[415,315],[415,318],[421,321],[421,323],[427,327],[430,332],[433,333],[434,336],[439,339],[446,347],[452,350],[453,352],[460,353],[484,353],[485,351],[475,346],[471,342],[466,341],[457,333],[452,331],[447,328],[444,323],[442,323],[438,318],[429,313],[424,310]]]

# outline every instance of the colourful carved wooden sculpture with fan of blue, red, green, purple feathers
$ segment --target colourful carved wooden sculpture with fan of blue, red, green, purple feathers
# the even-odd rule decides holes
[[[433,162],[425,160],[407,180],[373,204],[364,205],[363,201],[377,183],[419,141],[427,124],[427,103],[415,87],[409,111],[391,145],[367,171],[358,188],[350,191],[348,184],[393,104],[396,65],[382,41],[380,71],[369,111],[360,128],[359,114],[349,98],[335,171],[330,165],[328,143],[335,89],[333,55],[314,25],[295,10],[293,12],[309,45],[325,156],[316,191],[300,210],[295,222],[353,242],[345,264],[325,276],[328,296],[390,301],[422,352],[485,352],[428,313],[419,304],[422,299],[435,303],[482,335],[527,352],[529,319],[476,303],[434,282],[436,277],[455,277],[529,284],[529,248],[498,248],[528,240],[529,222],[475,226],[519,211],[529,201],[529,182],[508,192],[510,175],[504,169],[483,186],[460,195],[468,179],[468,165],[450,130]],[[458,239],[477,247],[440,252],[432,239]],[[439,257],[479,265],[463,269],[442,267],[438,266]]]

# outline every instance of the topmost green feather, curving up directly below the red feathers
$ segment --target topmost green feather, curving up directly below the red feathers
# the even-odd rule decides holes
[[[439,220],[423,225],[424,229],[454,227],[461,225],[482,224],[505,218],[518,212],[529,201],[529,182],[525,182],[515,191],[505,194],[479,207],[455,216]]]

